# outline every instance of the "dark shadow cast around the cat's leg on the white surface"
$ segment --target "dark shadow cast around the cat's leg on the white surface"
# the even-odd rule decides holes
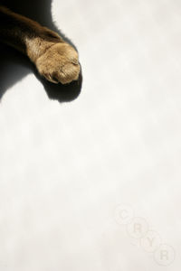
[[[0,0],[0,5],[5,5],[15,13],[23,14],[61,34],[75,48],[72,42],[52,22],[52,0]],[[77,81],[72,81],[71,84],[53,84],[38,74],[33,63],[27,57],[0,43],[0,99],[7,89],[13,87],[17,81],[31,72],[42,82],[49,98],[57,99],[60,102],[71,101],[77,98],[81,92],[81,74],[80,78]]]

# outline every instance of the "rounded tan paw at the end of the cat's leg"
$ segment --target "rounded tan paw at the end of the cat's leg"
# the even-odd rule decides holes
[[[78,53],[68,43],[59,42],[48,48],[36,61],[39,73],[52,83],[68,84],[80,74]]]

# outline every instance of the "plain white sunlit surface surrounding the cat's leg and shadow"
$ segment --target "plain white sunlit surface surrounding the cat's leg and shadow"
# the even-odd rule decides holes
[[[83,87],[60,105],[29,75],[1,101],[0,271],[177,271],[181,2],[54,0],[52,14]]]

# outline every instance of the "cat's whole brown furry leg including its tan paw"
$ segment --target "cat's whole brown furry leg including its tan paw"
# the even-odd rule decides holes
[[[26,54],[39,73],[53,83],[66,84],[79,78],[78,53],[70,44],[52,30],[2,5],[0,42]]]

